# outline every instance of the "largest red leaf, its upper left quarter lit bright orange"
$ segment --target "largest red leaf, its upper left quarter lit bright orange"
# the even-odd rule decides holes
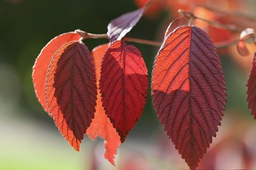
[[[225,86],[220,57],[204,31],[182,26],[165,39],[152,72],[153,107],[191,169],[216,137]]]

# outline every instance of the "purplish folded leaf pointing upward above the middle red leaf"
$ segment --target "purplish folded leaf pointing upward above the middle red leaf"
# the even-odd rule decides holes
[[[128,12],[110,21],[110,23],[108,24],[108,32],[107,32],[110,42],[113,42],[116,40],[119,41],[128,32],[130,32],[132,27],[134,27],[142,17],[143,12],[147,7],[147,4],[148,3],[146,3],[142,8],[139,8],[138,10]]]

